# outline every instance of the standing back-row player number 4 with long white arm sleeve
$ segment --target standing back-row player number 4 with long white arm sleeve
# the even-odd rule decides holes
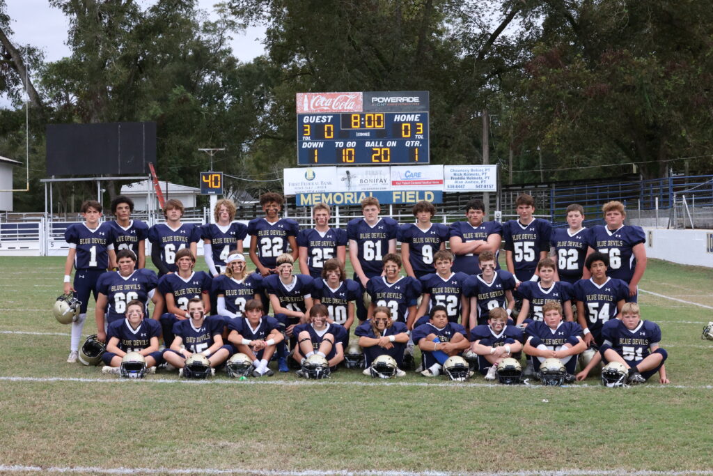
[[[235,203],[227,198],[221,198],[215,203],[213,216],[215,223],[206,223],[200,230],[203,238],[203,258],[210,275],[215,278],[225,273],[225,260],[230,251],[237,250],[242,253],[242,240],[247,236],[247,226],[232,221],[235,218]]]

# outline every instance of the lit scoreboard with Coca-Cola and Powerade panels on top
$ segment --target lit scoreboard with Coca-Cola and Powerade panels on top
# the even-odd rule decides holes
[[[297,93],[300,166],[429,163],[428,91]]]

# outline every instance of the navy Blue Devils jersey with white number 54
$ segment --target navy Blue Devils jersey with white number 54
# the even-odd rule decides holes
[[[602,285],[597,285],[592,278],[581,279],[574,285],[573,297],[584,304],[587,326],[594,332],[616,317],[617,303],[629,297],[629,286],[615,278],[607,278]]]

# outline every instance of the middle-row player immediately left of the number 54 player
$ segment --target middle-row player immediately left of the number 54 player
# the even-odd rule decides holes
[[[523,298],[518,314],[518,325],[528,325],[533,320],[543,320],[543,305],[549,301],[560,303],[564,309],[565,320],[572,321],[572,286],[564,281],[555,281],[555,261],[543,258],[537,264],[540,281],[525,281],[518,292]]]

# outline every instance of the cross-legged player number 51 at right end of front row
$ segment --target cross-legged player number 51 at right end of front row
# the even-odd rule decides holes
[[[637,303],[623,305],[621,320],[608,320],[602,338],[602,360],[624,364],[629,369],[628,383],[644,383],[657,372],[660,383],[670,383],[664,366],[668,353],[659,347],[661,329],[650,320],[641,320]]]

